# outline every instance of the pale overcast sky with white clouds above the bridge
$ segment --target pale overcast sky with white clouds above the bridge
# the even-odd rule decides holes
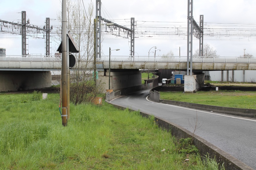
[[[88,8],[90,0],[84,0],[85,9]],[[92,1],[95,5],[95,0]],[[194,0],[193,17],[199,24],[200,14],[204,15],[204,23],[207,22],[224,22],[224,23],[252,23],[256,24],[256,1],[254,0]],[[135,18],[135,21],[152,21],[152,22],[187,22],[187,0],[101,0],[103,18],[112,19],[129,19]],[[21,19],[21,11],[26,11],[27,19],[30,23],[43,27],[46,17],[51,19],[50,25],[58,24],[57,12],[61,10],[59,0],[14,0],[1,1],[0,19],[5,21],[14,21]],[[94,12],[95,15],[95,12]],[[256,29],[256,28],[254,28]],[[255,34],[255,33],[254,33]],[[136,36],[136,35],[135,35]],[[28,39],[29,53],[45,53],[44,39]],[[157,46],[156,55],[163,55],[172,50],[175,56],[187,56],[187,40],[157,40],[157,39],[135,39],[135,55],[147,56],[151,47]],[[239,56],[243,55],[244,50],[256,56],[256,41],[211,41],[204,40],[204,43],[210,44],[220,56]],[[129,39],[116,38],[113,40],[104,40],[102,42],[102,53],[109,54],[111,49],[120,49],[112,52],[112,55],[129,56],[130,44]],[[7,55],[21,55],[21,36],[8,35],[0,32],[0,47],[6,48]],[[193,51],[199,48],[199,42],[193,38]],[[151,50],[153,51],[153,49]],[[55,53],[54,50],[51,52]],[[154,54],[152,54],[154,55]]]

